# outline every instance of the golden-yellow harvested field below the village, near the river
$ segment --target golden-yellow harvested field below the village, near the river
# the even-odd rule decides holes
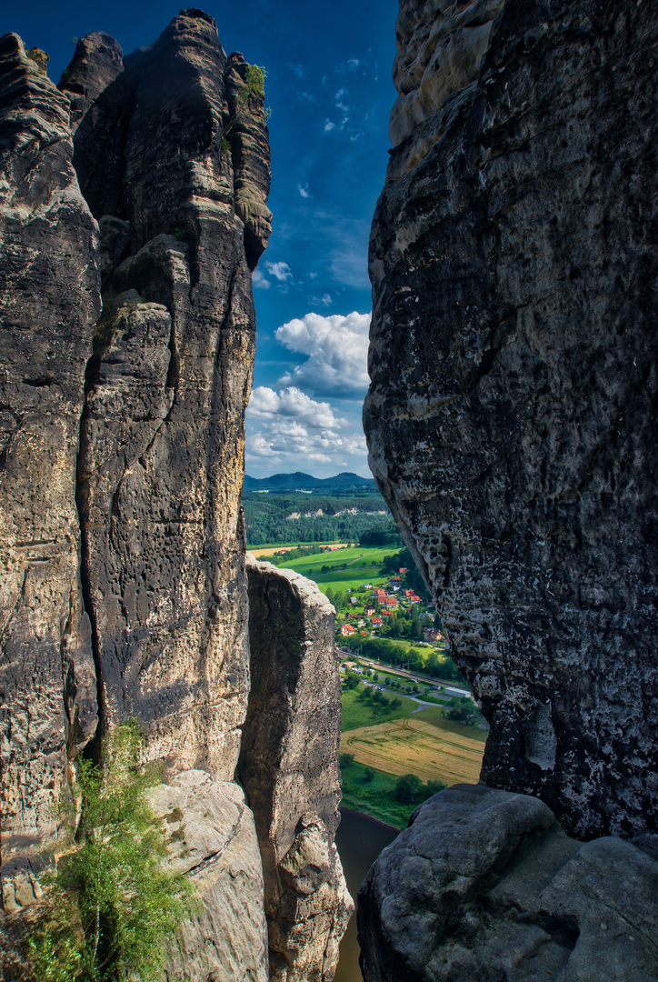
[[[438,778],[448,785],[476,784],[484,736],[471,727],[414,715],[344,733],[341,752],[354,753],[359,764],[388,774],[416,774],[423,781]]]

